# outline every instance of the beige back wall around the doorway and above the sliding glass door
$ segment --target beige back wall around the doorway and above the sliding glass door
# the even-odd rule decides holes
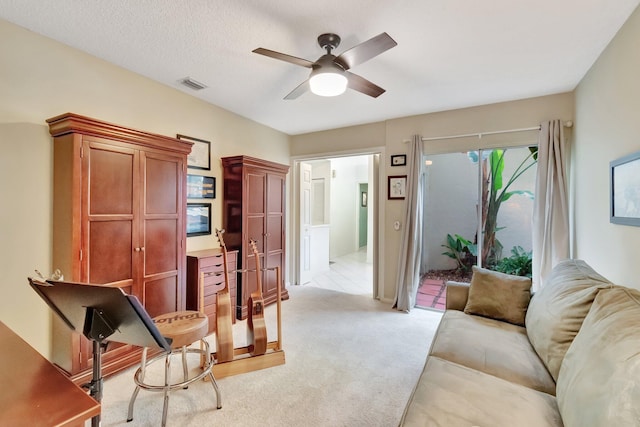
[[[520,129],[537,126],[550,119],[573,120],[573,93],[550,95],[521,101],[504,102],[460,110],[404,117],[373,123],[297,135],[291,138],[291,155],[294,157],[321,157],[340,152],[371,152],[379,147],[383,154],[380,173],[379,218],[381,298],[391,301],[395,295],[397,254],[400,252],[400,232],[394,230],[396,220],[403,222],[404,202],[387,200],[386,177],[402,175],[405,167],[391,167],[390,156],[408,152],[405,141],[412,135],[437,137],[505,129]],[[484,137],[481,147],[522,145],[537,140],[535,132],[511,134],[509,136]],[[477,138],[426,142],[425,152],[443,153],[466,151],[478,147]]]

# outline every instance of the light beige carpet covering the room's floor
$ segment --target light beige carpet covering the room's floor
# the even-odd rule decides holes
[[[222,409],[216,409],[208,382],[171,393],[168,426],[398,424],[441,313],[401,313],[368,296],[312,286],[292,286],[289,294],[282,303],[286,363],[219,379]],[[275,313],[272,305],[265,314],[270,341],[276,338]],[[245,328],[244,321],[234,326],[236,347],[246,345]],[[214,349],[215,338],[209,340]],[[176,375],[181,372],[178,358],[172,366]],[[133,421],[126,422],[133,373],[132,368],[105,380],[102,426],[160,425],[162,393],[144,390]]]

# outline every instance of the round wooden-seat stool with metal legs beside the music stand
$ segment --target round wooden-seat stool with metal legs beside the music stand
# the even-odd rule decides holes
[[[136,371],[133,379],[136,383],[136,389],[133,391],[131,400],[129,401],[129,412],[127,415],[127,422],[133,420],[133,405],[138,397],[140,389],[148,391],[162,391],[164,393],[164,406],[162,408],[162,426],[167,422],[167,408],[169,406],[169,392],[179,389],[187,388],[189,384],[199,381],[208,376],[211,379],[211,385],[216,392],[217,408],[222,408],[220,399],[220,390],[216,379],[213,377],[211,368],[213,368],[212,358],[209,353],[209,343],[204,337],[209,330],[209,319],[207,316],[199,311],[177,311],[173,313],[166,313],[155,317],[153,322],[156,324],[158,330],[167,338],[167,341],[171,341],[171,351],[161,353],[150,360],[147,360],[147,348],[142,350],[142,361],[140,368]],[[200,348],[187,348],[188,345],[200,341]],[[182,370],[183,381],[175,384],[170,383],[170,364],[171,355],[177,352],[182,353]],[[202,364],[202,372],[193,378],[189,378],[189,371],[187,368],[187,353],[197,353],[200,355]],[[164,385],[151,385],[144,382],[144,375],[146,367],[152,362],[164,357]]]

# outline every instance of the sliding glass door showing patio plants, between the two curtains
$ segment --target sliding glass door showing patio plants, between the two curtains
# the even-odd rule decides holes
[[[473,265],[530,276],[536,154],[522,147],[427,157],[427,273],[417,306],[443,308],[444,282],[469,281]]]

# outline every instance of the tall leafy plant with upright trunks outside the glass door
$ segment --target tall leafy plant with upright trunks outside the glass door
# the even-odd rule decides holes
[[[507,150],[485,150],[482,159],[477,151],[467,153],[474,163],[481,162],[482,167],[482,265],[495,266],[502,255],[502,245],[496,239],[498,227],[498,211],[502,203],[514,195],[521,195],[533,199],[533,193],[528,190],[509,191],[511,185],[529,168],[536,164],[538,157],[537,147],[529,148],[529,155],[515,169],[511,177],[503,179],[504,155]]]

